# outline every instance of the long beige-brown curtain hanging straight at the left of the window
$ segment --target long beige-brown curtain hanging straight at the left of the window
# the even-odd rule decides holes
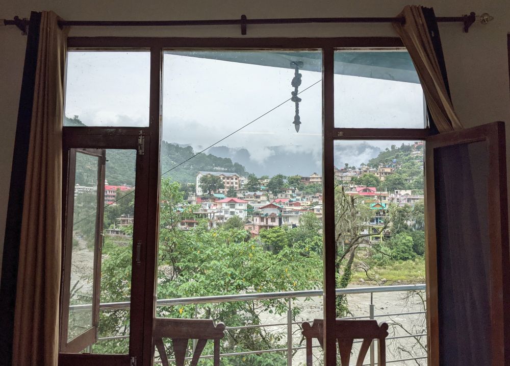
[[[42,12],[14,315],[13,365],[58,363],[67,32]]]

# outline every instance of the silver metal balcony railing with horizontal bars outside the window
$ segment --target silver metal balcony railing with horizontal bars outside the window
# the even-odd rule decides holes
[[[373,287],[353,287],[353,288],[337,288],[336,295],[354,295],[354,294],[370,294],[370,304],[369,304],[369,314],[362,316],[350,316],[344,319],[377,319],[377,318],[385,318],[389,316],[399,316],[399,315],[413,315],[413,314],[424,314],[425,311],[410,311],[410,312],[401,312],[401,313],[375,313],[375,305],[373,302],[373,295],[379,292],[395,292],[395,291],[421,291],[425,290],[424,284],[417,285],[396,285],[396,286],[373,286]],[[235,295],[221,295],[221,296],[202,296],[202,297],[194,297],[194,298],[179,298],[179,299],[159,299],[156,301],[156,306],[182,306],[182,305],[195,305],[195,317],[198,312],[198,304],[211,304],[211,303],[225,303],[225,302],[236,302],[236,301],[260,301],[260,300],[282,300],[285,299],[287,301],[287,321],[285,323],[274,323],[274,324],[260,324],[260,325],[245,325],[245,326],[237,326],[237,327],[225,327],[225,330],[238,330],[238,329],[248,329],[248,328],[266,328],[266,327],[277,327],[277,326],[287,326],[287,347],[286,348],[278,348],[278,349],[269,349],[269,350],[257,350],[257,351],[245,351],[245,352],[233,352],[233,353],[223,353],[221,357],[232,357],[232,356],[244,356],[250,354],[262,354],[269,352],[286,352],[287,353],[287,365],[292,366],[292,356],[293,351],[304,350],[304,346],[293,346],[292,343],[292,326],[300,325],[302,322],[293,322],[292,321],[292,301],[293,299],[299,298],[312,298],[312,297],[320,297],[323,296],[322,290],[303,290],[303,291],[282,291],[282,292],[262,292],[262,293],[254,293],[254,294],[235,294]],[[115,302],[115,303],[101,303],[99,305],[99,310],[118,310],[118,309],[129,309],[130,302]],[[80,311],[90,309],[91,305],[71,305],[69,307],[70,310]],[[426,336],[426,333],[418,333],[418,334],[408,334],[408,335],[399,335],[387,337],[387,339],[399,339],[399,338],[417,338]],[[112,337],[101,337],[98,338],[98,341],[101,340],[110,340],[110,339],[123,339],[129,338],[129,335],[121,335],[121,336],[112,336]],[[354,342],[361,343],[361,341]],[[314,346],[319,347],[319,346]],[[213,355],[203,355],[200,358],[212,358]],[[375,350],[374,350],[374,342],[370,346],[370,363],[367,363],[366,366],[374,366],[377,362],[375,361]],[[418,360],[418,359],[426,359],[426,356],[420,357],[412,357],[405,359],[396,359],[389,360],[386,363],[394,363],[394,362],[404,362],[410,360]],[[191,359],[191,358],[190,358]],[[157,363],[157,362],[155,362]],[[365,364],[364,364],[365,366]]]

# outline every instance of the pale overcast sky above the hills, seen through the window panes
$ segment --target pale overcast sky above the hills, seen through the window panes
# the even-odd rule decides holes
[[[267,113],[206,153],[230,157],[258,176],[321,172],[321,73],[300,70],[299,91],[311,87],[299,94],[299,133],[292,124],[294,103],[270,111],[291,96],[290,62],[304,60],[304,69],[320,70],[318,52],[304,58],[302,53],[250,54],[253,63],[266,65],[188,55],[164,55],[163,140],[197,152]],[[217,53],[218,58],[243,56],[241,51]],[[276,63],[289,67],[268,66]],[[88,126],[147,126],[149,65],[148,52],[70,52],[66,115],[78,115]],[[336,74],[334,86],[337,127],[423,127],[419,84]],[[359,165],[400,143],[341,141],[335,144],[335,164]]]

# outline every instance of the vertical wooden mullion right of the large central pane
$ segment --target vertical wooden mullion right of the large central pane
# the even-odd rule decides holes
[[[335,161],[334,140],[334,49],[324,48],[322,55],[323,96],[323,266],[324,266],[324,364],[337,364],[336,325],[336,270],[335,270]]]

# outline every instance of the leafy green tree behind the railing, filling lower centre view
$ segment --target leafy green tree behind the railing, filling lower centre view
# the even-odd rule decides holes
[[[322,288],[322,258],[307,249],[305,244],[288,245],[288,230],[268,230],[265,237],[281,234],[278,243],[282,248],[273,253],[267,251],[258,239],[249,238],[238,217],[230,218],[223,226],[209,228],[207,221],[198,219],[193,230],[179,229],[184,217],[194,217],[194,206],[187,205],[179,183],[161,182],[160,238],[158,261],[159,299],[200,297],[214,295],[248,294],[253,292],[277,292]],[[196,219],[196,217],[195,217]],[[129,299],[132,247],[119,246],[110,240],[104,249],[101,302]],[[293,307],[293,321],[300,312]],[[230,303],[198,304],[197,316],[202,319],[222,321],[229,327],[261,324],[262,313],[287,312],[285,300],[239,301]],[[193,318],[195,305],[163,306],[157,308],[157,316],[170,318]],[[122,336],[129,334],[129,311],[101,312],[99,334]],[[113,339],[103,343],[104,353],[125,353],[127,339]],[[170,344],[166,344],[170,348]],[[229,330],[221,342],[223,353],[244,352],[285,347],[283,333],[274,329],[248,328]],[[204,354],[212,352],[208,343]],[[244,357],[244,358],[242,358]],[[229,357],[222,361],[225,366],[238,364],[258,366],[261,364],[284,365],[279,355],[261,354],[239,358]],[[241,359],[242,358],[242,359]],[[209,361],[205,361],[205,364]]]

